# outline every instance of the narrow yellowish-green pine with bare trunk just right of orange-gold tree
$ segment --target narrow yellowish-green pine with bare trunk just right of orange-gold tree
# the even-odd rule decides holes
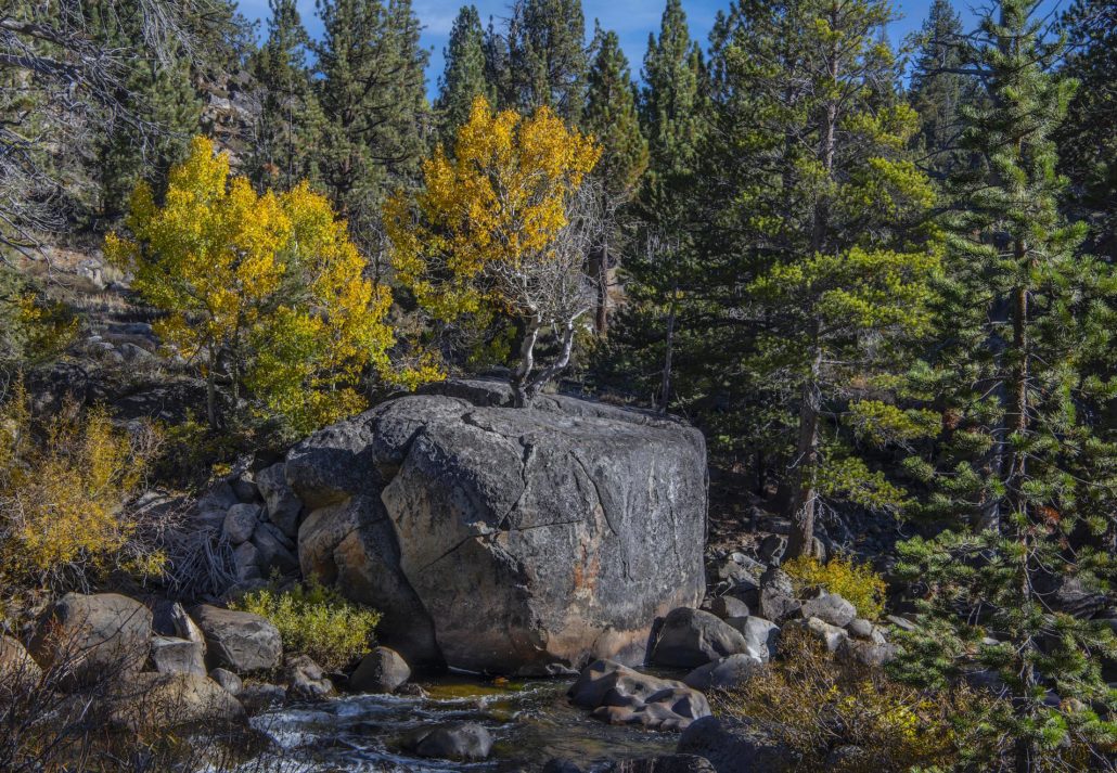
[[[631,199],[648,168],[648,142],[640,131],[636,86],[620,38],[613,31],[596,27],[592,50],[593,65],[582,123],[602,149],[594,176],[601,183],[601,209],[609,222],[601,246],[591,255],[589,271],[598,287],[594,324],[598,333],[604,334],[609,328],[610,274],[619,265],[620,210]]]

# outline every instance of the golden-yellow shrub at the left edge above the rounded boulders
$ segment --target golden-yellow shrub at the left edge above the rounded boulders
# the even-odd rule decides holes
[[[159,443],[151,424],[118,430],[103,408],[70,403],[35,421],[17,382],[0,408],[0,579],[60,590],[116,569],[157,574],[160,553],[125,504]]]

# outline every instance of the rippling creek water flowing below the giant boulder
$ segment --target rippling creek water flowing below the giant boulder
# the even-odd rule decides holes
[[[464,679],[422,683],[426,698],[359,695],[262,714],[252,725],[284,750],[289,770],[541,771],[553,757],[580,765],[670,753],[678,736],[612,727],[566,700],[565,680],[486,684]],[[428,723],[476,722],[493,734],[491,757],[451,763],[409,756],[399,746],[407,731]],[[283,767],[287,769],[285,764]]]

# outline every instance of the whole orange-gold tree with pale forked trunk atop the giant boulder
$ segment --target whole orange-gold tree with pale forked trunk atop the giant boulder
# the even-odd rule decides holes
[[[392,266],[421,307],[442,322],[486,309],[519,321],[522,407],[569,364],[577,319],[593,307],[584,267],[599,229],[588,175],[600,155],[547,107],[525,118],[478,97],[452,154],[436,149],[419,192],[385,207]],[[548,330],[560,353],[535,372]]]

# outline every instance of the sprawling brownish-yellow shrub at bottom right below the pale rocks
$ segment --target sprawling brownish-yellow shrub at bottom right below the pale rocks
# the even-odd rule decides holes
[[[880,669],[841,662],[803,634],[786,632],[780,661],[747,686],[715,696],[719,714],[765,723],[802,755],[799,770],[836,773],[948,770],[958,761],[960,727],[973,709],[968,693],[920,691]],[[840,746],[861,755],[839,766],[827,756]]]

